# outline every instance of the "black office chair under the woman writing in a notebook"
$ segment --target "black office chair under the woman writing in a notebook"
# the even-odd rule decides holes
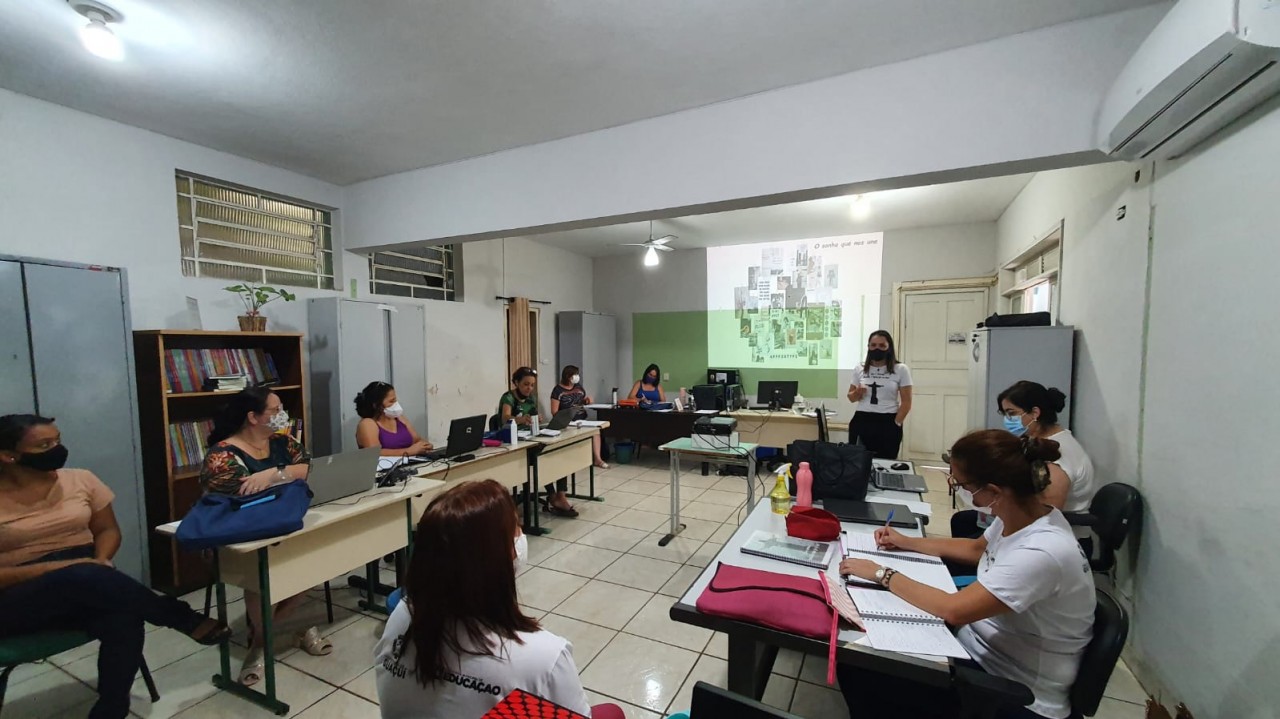
[[[1129,613],[1110,594],[1096,591],[1098,604],[1093,610],[1093,638],[1084,647],[1080,670],[1068,695],[1071,700],[1070,719],[1093,716],[1098,711],[1102,692],[1129,638]],[[1030,690],[1018,682],[964,665],[955,668],[955,687],[966,718],[992,719],[1002,709],[1027,706],[1034,699]]]

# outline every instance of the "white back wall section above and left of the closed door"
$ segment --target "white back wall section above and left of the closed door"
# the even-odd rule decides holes
[[[884,232],[881,328],[893,330],[893,283],[987,278],[996,273],[996,223]]]

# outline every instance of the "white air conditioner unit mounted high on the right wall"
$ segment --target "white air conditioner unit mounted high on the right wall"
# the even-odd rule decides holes
[[[1179,0],[1098,113],[1098,147],[1175,157],[1280,91],[1280,0]]]

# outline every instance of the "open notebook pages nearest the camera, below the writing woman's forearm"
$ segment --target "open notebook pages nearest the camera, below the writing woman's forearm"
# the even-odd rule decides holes
[[[946,622],[887,591],[849,587],[876,649],[969,659]]]

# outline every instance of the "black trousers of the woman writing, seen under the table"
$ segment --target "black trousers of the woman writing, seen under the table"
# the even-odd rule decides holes
[[[977,664],[974,664],[977,665]],[[849,664],[836,665],[840,692],[845,695],[850,719],[883,719],[910,716],[911,719],[956,719],[960,716],[960,699],[950,688],[918,684],[910,679],[859,669]],[[1025,706],[1002,713],[1000,719],[1044,719]]]

